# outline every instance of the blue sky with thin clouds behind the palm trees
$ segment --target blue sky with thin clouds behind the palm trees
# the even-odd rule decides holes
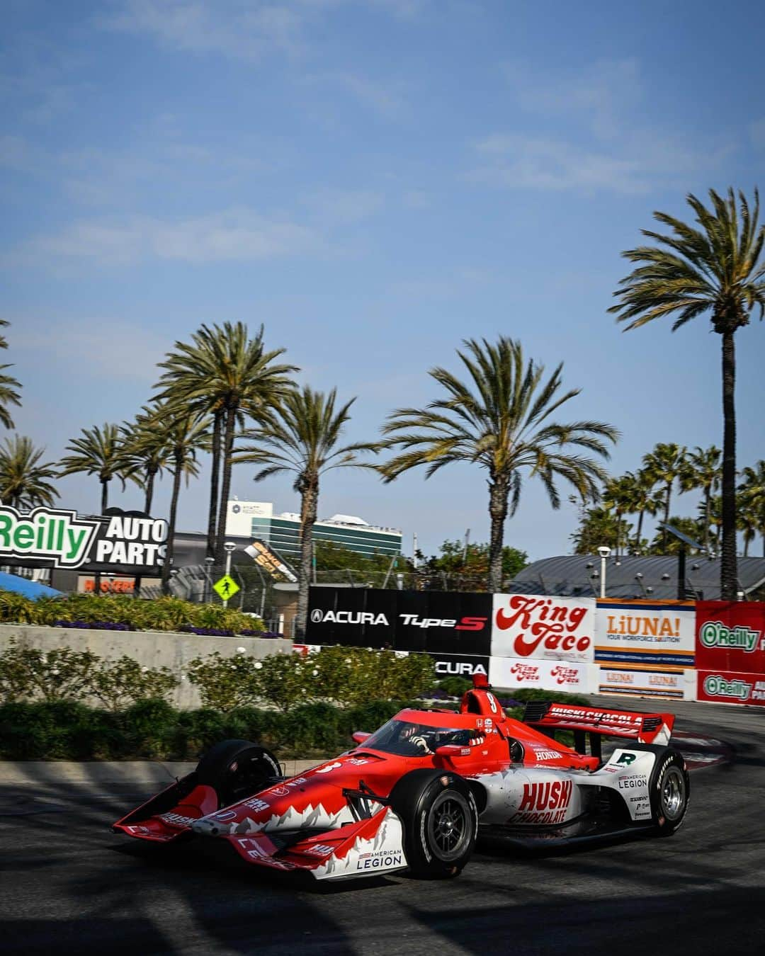
[[[688,192],[757,185],[764,21],[755,3],[722,17],[690,0],[7,2],[0,268],[18,431],[57,458],[83,426],[132,418],[176,339],[241,319],[301,381],[358,396],[349,441],[436,397],[427,369],[456,370],[461,339],[502,334],[564,362],[582,389],[567,419],[622,431],[614,474],[657,442],[720,445],[707,318],[624,334],[606,309],[654,209],[687,218]],[[744,466],[765,456],[765,328],[736,340]],[[96,507],[96,479],[59,487]],[[254,485],[245,466],[232,491],[297,507],[288,479]],[[184,491],[182,528],[204,527],[206,493]],[[406,552],[417,532],[432,553],[467,528],[486,540],[487,499],[470,467],[385,487],[349,470],[319,511],[400,527]],[[527,483],[506,541],[565,554],[576,524]]]

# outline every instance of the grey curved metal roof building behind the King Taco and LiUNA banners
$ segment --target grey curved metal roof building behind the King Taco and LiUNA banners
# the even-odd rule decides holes
[[[678,595],[678,558],[636,557],[624,554],[605,559],[605,596],[674,599]],[[765,590],[765,557],[738,558],[739,591],[749,599],[762,599]],[[504,585],[509,594],[542,594],[559,597],[600,597],[601,558],[598,554],[568,554],[535,561]],[[689,555],[686,559],[686,594],[689,599],[719,600],[720,559]]]

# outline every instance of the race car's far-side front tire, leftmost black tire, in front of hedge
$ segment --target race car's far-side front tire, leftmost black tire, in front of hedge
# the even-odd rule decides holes
[[[276,777],[281,777],[281,768],[273,753],[249,740],[223,740],[215,744],[196,770],[197,783],[215,790],[220,807],[229,807],[264,790]]]

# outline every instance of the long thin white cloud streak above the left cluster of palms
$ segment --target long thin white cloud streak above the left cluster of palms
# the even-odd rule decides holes
[[[322,247],[310,228],[232,209],[169,222],[134,217],[116,223],[82,220],[51,235],[34,237],[11,259],[29,264],[40,258],[89,259],[128,265],[144,259],[208,263],[297,255]]]

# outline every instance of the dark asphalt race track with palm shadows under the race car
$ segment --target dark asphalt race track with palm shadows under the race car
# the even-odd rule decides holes
[[[211,856],[202,841],[163,853],[107,830],[142,795],[135,784],[114,794],[93,784],[19,788],[2,783],[0,765],[0,951],[761,952],[765,710],[666,709],[689,735],[685,749],[713,737],[723,745],[712,745],[714,759],[731,758],[692,771],[689,815],[675,836],[556,855],[481,844],[459,879],[439,882],[319,886]]]

